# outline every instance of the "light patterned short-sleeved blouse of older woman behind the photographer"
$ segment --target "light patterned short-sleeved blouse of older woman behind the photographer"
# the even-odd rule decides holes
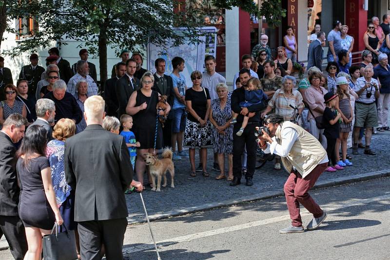
[[[298,90],[292,89],[292,94],[287,96],[283,89],[276,90],[272,99],[268,102],[271,108],[275,109],[275,113],[282,116],[284,120],[294,119],[294,109],[290,105],[303,108],[303,98]]]

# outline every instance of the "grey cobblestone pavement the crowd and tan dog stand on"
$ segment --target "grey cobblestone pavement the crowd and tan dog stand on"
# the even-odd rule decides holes
[[[373,135],[370,147],[377,153],[376,156],[364,155],[363,149],[359,149],[359,155],[352,156],[351,149],[348,149],[348,154],[352,156],[353,166],[345,167],[344,170],[336,173],[324,172],[319,181],[390,169],[390,132]],[[252,187],[246,186],[244,179],[242,179],[244,180],[243,184],[230,187],[230,182],[226,179],[215,180],[219,173],[211,169],[213,158],[212,149],[209,149],[207,168],[210,177],[203,177],[201,173],[197,173],[196,177],[190,177],[189,159],[176,160],[175,188],[171,188],[168,184],[167,187],[162,188],[161,192],[153,192],[147,187],[147,190],[142,193],[148,214],[162,214],[207,203],[254,196],[262,192],[280,191],[288,176],[284,170],[274,170],[273,162],[267,162],[261,169],[255,171]],[[195,164],[198,164],[197,152]],[[167,174],[167,178],[168,183],[170,183],[169,174]],[[139,195],[126,195],[126,200],[129,209],[129,222],[142,222],[144,213]]]

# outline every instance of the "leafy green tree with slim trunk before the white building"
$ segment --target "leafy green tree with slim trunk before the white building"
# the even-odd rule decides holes
[[[8,12],[4,15],[6,19],[39,17],[41,29],[6,54],[16,56],[24,51],[36,51],[38,46],[46,48],[53,41],[59,44],[68,39],[82,41],[91,54],[98,55],[100,81],[104,83],[107,79],[107,46],[117,52],[123,48],[140,51],[137,48],[144,48],[148,42],[158,45],[166,39],[173,39],[176,44],[183,43],[184,39],[196,41],[197,27],[203,22],[199,18],[204,14],[199,10],[185,10],[184,4],[181,0],[0,0],[0,7]],[[251,0],[213,0],[213,4],[228,9],[239,6],[252,14],[262,15],[262,10],[259,12]],[[273,9],[269,10],[273,12],[264,10],[264,14],[267,19],[277,22],[276,17],[283,16],[280,0],[263,1],[263,7],[270,6]],[[275,15],[270,16],[271,13]],[[0,20],[0,36],[5,29],[15,32],[13,28],[5,28],[4,22]],[[177,35],[173,27],[186,27],[187,31]]]

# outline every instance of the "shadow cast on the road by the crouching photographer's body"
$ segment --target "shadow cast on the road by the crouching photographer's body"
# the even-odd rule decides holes
[[[326,225],[325,225],[326,224]],[[324,231],[343,230],[359,227],[370,227],[382,224],[378,220],[364,220],[364,219],[350,219],[350,220],[333,220],[324,221],[324,223],[318,228]]]

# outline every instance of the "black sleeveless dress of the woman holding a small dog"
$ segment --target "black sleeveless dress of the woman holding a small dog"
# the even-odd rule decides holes
[[[146,97],[142,94],[141,90],[137,90],[136,105],[139,106],[143,102],[146,102],[147,107],[144,110],[139,111],[133,116],[133,129],[136,135],[136,140],[139,141],[139,149],[154,148],[155,135],[156,135],[156,116],[157,109],[156,105],[158,102],[158,92],[152,90],[152,95]],[[162,143],[162,128],[158,122],[157,125],[157,140],[156,149],[161,149]]]

